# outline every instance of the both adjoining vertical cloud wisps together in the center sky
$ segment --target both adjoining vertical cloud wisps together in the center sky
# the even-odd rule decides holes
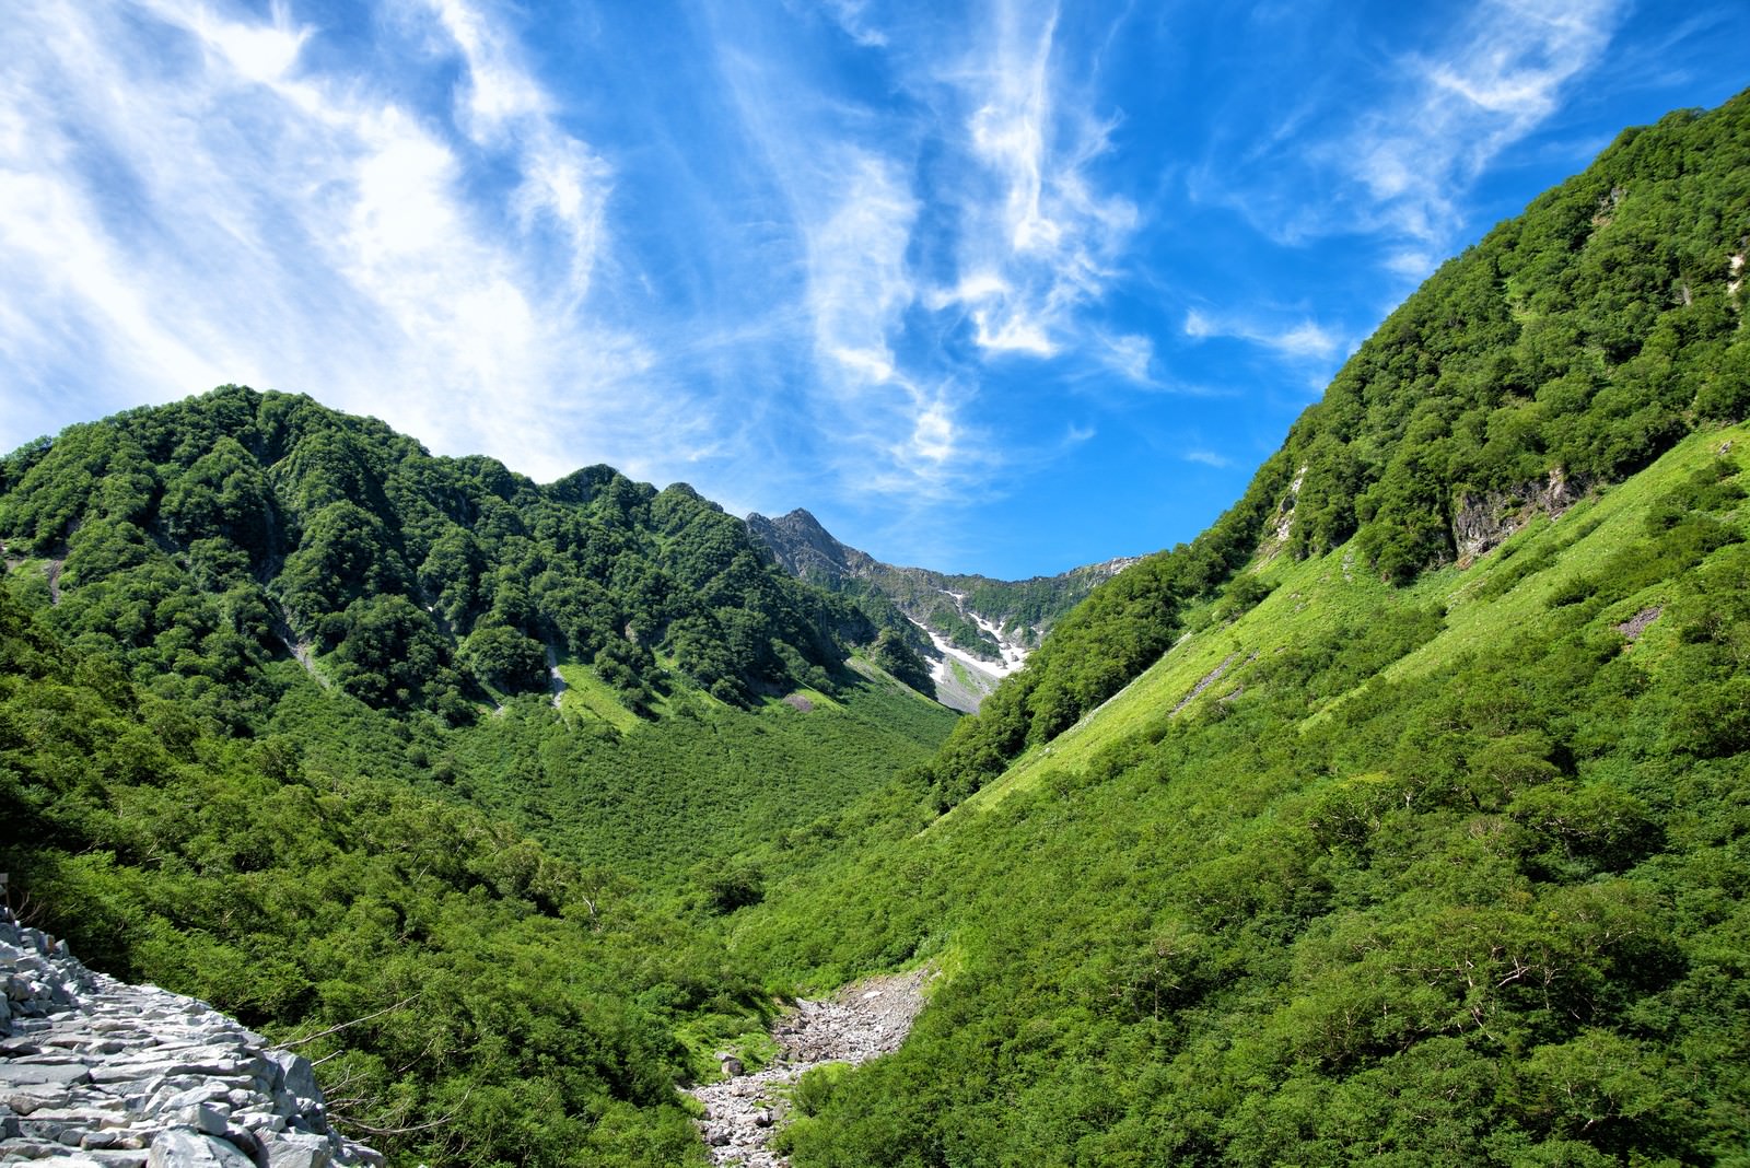
[[[777,65],[758,21],[714,28],[791,212],[819,379],[807,407],[856,451],[840,465],[858,490],[914,502],[989,490],[1026,446],[996,437],[994,369],[1069,358],[1153,381],[1153,343],[1085,311],[1139,222],[1092,177],[1110,119],[1059,52],[1055,7],[1001,0],[948,38],[861,3],[826,14],[905,101],[805,100],[810,68]]]

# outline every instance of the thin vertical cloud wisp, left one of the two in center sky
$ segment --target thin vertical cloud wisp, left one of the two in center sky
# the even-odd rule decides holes
[[[845,7],[840,19],[861,19]],[[886,38],[859,26],[861,47]],[[821,441],[845,488],[928,504],[985,467],[962,420],[970,397],[952,371],[901,353],[920,297],[910,257],[920,199],[910,182],[915,140],[903,124],[858,107],[798,101],[808,79],[775,65],[760,28],[723,30],[718,68],[742,131],[765,161],[788,212],[763,271],[768,315],[793,320],[807,369],[789,400]],[[786,418],[794,427],[796,418]]]

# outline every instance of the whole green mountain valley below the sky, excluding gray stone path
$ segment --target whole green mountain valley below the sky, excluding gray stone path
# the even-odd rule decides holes
[[[1750,1163],[1746,252],[1750,94],[1626,131],[1208,532],[1024,582],[308,397],[70,427],[9,900],[397,1165],[707,1165],[761,1068],[796,1168]]]

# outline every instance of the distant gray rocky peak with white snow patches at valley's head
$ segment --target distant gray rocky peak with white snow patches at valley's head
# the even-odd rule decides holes
[[[894,629],[887,643],[900,636],[929,663],[936,698],[968,712],[976,712],[985,694],[1097,584],[1136,563],[1118,558],[1059,575],[992,581],[882,563],[840,544],[800,507],[777,519],[747,516],[747,530],[796,579],[852,596],[877,614]]]

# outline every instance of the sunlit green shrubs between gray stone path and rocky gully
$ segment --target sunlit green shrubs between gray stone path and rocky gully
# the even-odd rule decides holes
[[[415,1128],[397,1161],[704,1163],[672,1033],[758,1019],[746,965],[623,881],[299,754],[208,734],[0,591],[0,867],[44,927],[278,1037],[378,1014],[303,1049],[343,1124]]]

